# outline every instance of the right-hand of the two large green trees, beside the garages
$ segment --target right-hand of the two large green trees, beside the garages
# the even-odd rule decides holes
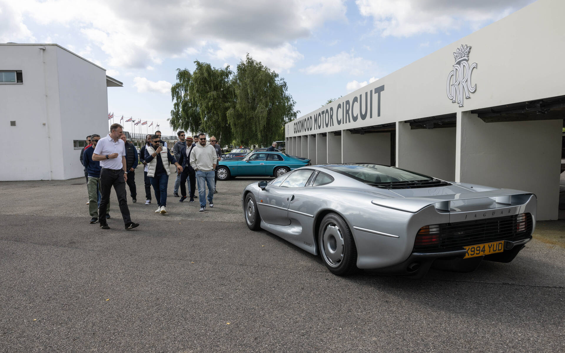
[[[234,105],[228,121],[236,143],[270,143],[283,137],[284,124],[297,115],[284,79],[247,54],[232,82]]]

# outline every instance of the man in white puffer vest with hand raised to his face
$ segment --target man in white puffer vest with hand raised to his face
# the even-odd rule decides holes
[[[147,163],[147,176],[151,181],[151,185],[153,185],[155,200],[157,200],[159,205],[155,213],[164,214],[167,213],[165,209],[167,206],[167,185],[169,175],[171,174],[168,162],[176,165],[177,173],[182,172],[182,167],[175,157],[171,155],[167,147],[163,149],[159,142],[160,139],[158,135],[151,136],[151,145],[145,149],[145,163]],[[167,161],[167,164],[164,164],[163,161]]]

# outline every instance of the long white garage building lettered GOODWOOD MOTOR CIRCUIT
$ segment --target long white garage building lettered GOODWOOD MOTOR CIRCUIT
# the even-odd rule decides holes
[[[538,0],[286,124],[312,164],[392,164],[527,190],[557,219],[565,116],[565,1]]]

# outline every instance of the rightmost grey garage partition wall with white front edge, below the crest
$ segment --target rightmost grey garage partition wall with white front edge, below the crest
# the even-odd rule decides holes
[[[485,123],[457,113],[455,180],[530,191],[537,219],[556,220],[563,120]]]

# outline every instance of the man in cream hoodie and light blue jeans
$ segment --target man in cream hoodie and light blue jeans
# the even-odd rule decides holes
[[[196,171],[198,181],[198,199],[200,201],[200,212],[206,211],[206,184],[208,184],[208,205],[214,207],[214,175],[218,157],[216,149],[206,143],[206,134],[199,134],[196,146],[190,152],[190,166]]]

